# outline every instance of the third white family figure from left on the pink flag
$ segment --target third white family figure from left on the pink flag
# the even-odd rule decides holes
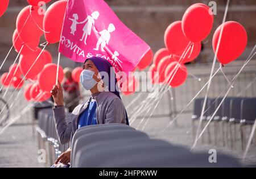
[[[97,41],[96,48],[93,48],[93,49],[98,51],[101,45],[101,51],[105,52],[104,47],[109,44],[109,40],[111,37],[110,33],[114,31],[115,31],[115,26],[114,24],[111,23],[109,24],[108,30],[103,30],[101,32],[98,32],[98,34],[100,34],[101,36]]]

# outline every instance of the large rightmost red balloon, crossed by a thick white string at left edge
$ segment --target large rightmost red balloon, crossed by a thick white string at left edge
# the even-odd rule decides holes
[[[212,46],[214,53],[216,53],[222,26],[224,26],[224,30],[222,32],[217,58],[221,64],[225,65],[242,55],[247,45],[247,34],[245,28],[238,22],[229,21],[221,24],[213,35]]]

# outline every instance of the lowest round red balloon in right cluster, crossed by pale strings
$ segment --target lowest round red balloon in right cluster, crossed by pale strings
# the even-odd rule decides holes
[[[167,83],[172,88],[175,88],[177,86],[182,85],[187,79],[187,68],[185,65],[178,64],[176,61],[174,61],[167,66],[164,76],[167,79]]]

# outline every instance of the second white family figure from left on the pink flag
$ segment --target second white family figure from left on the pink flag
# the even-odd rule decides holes
[[[82,38],[80,39],[80,41],[84,39],[85,45],[86,45],[86,40],[88,36],[92,32],[92,28],[94,28],[94,30],[96,31],[96,28],[94,26],[94,23],[95,23],[94,19],[97,20],[99,15],[100,13],[98,13],[98,11],[94,11],[91,15],[88,15],[83,22],[80,22],[81,24],[83,24],[87,21],[86,24],[84,25],[84,28],[82,28],[82,31],[84,31],[84,34],[82,34]]]

